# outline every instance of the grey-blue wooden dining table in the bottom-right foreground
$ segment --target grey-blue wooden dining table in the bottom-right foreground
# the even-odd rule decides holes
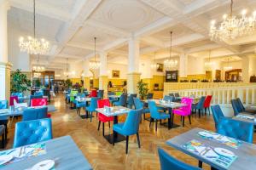
[[[256,166],[256,144],[250,144],[244,141],[241,141],[239,139],[232,139],[229,137],[226,137],[224,135],[220,135],[218,133],[212,133],[214,135],[219,135],[223,139],[230,139],[230,141],[237,141],[237,146],[232,145],[230,143],[224,143],[220,142],[218,140],[212,139],[212,138],[205,138],[201,137],[199,133],[206,132],[205,129],[202,128],[193,128],[189,130],[186,133],[179,134],[175,136],[172,139],[168,139],[166,141],[166,144],[169,146],[172,146],[172,148],[175,148],[177,150],[182,151],[183,153],[194,157],[195,159],[199,160],[199,166],[202,166],[202,162],[208,164],[212,167],[212,169],[218,169],[218,170],[242,170],[242,169],[255,169]],[[211,133],[211,132],[210,132]],[[218,137],[219,138],[219,137]],[[218,156],[220,158],[212,159],[211,156],[207,157],[204,156],[204,154],[207,152],[204,150],[201,150],[201,152],[195,153],[194,151],[188,150],[189,147],[187,147],[189,141],[196,141],[196,145],[204,144],[209,146],[208,148],[212,149],[212,154],[216,155],[217,150],[223,150],[224,153],[232,154],[234,159],[230,162],[230,164],[225,165],[224,162],[220,161],[221,159],[227,159],[226,156]],[[191,147],[190,147],[191,148]],[[221,163],[220,163],[221,162]]]

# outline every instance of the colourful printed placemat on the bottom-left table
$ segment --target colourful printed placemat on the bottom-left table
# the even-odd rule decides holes
[[[28,157],[42,156],[44,154],[46,154],[45,143],[30,144],[11,150],[3,150],[0,152],[0,167],[16,161],[22,161]],[[3,161],[6,161],[1,160],[3,156],[10,156],[11,160],[3,163]]]

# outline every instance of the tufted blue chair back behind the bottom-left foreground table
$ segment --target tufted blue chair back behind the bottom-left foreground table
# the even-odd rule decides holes
[[[51,120],[49,118],[16,123],[14,148],[49,139],[52,139]]]

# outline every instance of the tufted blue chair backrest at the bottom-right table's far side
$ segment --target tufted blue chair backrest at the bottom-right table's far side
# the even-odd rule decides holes
[[[217,133],[230,138],[240,139],[248,143],[253,143],[253,123],[238,121],[226,117],[220,118]]]

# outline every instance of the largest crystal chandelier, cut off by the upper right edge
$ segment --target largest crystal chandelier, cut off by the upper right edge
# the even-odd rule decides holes
[[[215,20],[212,20],[209,33],[211,40],[225,41],[253,33],[256,24],[256,11],[253,12],[252,16],[247,17],[247,10],[243,9],[241,18],[233,16],[232,13],[233,0],[230,3],[230,15],[224,14],[224,20],[218,28],[215,26]]]

